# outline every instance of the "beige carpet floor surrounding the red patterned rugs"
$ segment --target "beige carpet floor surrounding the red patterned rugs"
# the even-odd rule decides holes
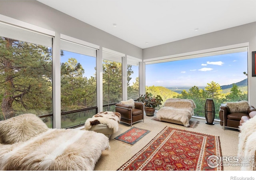
[[[139,140],[134,146],[118,142],[114,138],[130,128],[129,125],[120,122],[119,130],[110,137],[110,150],[105,150],[102,156],[96,163],[94,170],[96,171],[115,171],[128,161],[134,154],[141,150],[150,140],[152,140],[165,126],[174,128],[186,129],[195,132],[201,132],[205,134],[213,134],[220,136],[220,146],[222,150],[222,156],[237,156],[238,151],[238,134],[239,131],[235,129],[223,130],[219,122],[214,122],[214,125],[205,124],[204,119],[195,119],[200,123],[196,128],[185,128],[182,125],[171,124],[168,122],[159,122],[152,120],[152,117],[145,116],[144,122],[140,121],[133,126],[150,130],[146,136]],[[224,166],[224,171],[237,171],[239,167]]]

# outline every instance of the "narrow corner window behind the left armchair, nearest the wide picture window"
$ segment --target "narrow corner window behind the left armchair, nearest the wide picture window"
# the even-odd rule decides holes
[[[127,58],[127,99],[139,98],[139,85],[139,62]]]

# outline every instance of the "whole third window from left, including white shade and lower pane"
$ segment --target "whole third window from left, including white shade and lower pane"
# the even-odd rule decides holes
[[[114,104],[122,100],[122,57],[103,52],[104,111],[115,111]]]

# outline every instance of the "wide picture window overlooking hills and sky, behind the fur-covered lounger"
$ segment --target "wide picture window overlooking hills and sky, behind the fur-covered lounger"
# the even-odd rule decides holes
[[[221,103],[248,100],[248,52],[174,60],[146,65],[146,91],[167,98],[192,99],[195,116],[205,117],[206,98]],[[152,73],[154,72],[154,73]]]

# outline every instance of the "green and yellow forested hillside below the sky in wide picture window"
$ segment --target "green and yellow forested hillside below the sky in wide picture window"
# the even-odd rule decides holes
[[[234,83],[231,85],[220,86],[216,82],[207,83],[207,86],[198,88],[193,86],[188,90],[183,90],[181,93],[174,92],[168,88],[162,86],[146,86],[146,92],[150,92],[153,95],[160,95],[163,99],[163,103],[168,98],[182,98],[182,99],[192,99],[196,104],[196,109],[194,110],[194,115],[199,117],[205,117],[204,115],[204,105],[207,98],[214,100],[215,104],[215,119],[219,119],[219,107],[220,104],[226,102],[235,102],[240,100],[248,100],[248,91],[246,85],[247,79]],[[239,85],[239,86],[238,86]],[[161,108],[160,106],[159,108]],[[159,109],[158,108],[158,109]]]

